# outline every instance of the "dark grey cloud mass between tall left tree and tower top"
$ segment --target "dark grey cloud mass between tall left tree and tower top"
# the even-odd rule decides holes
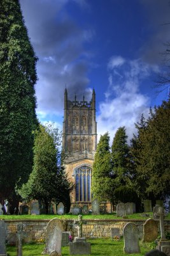
[[[38,111],[62,115],[64,88],[70,97],[76,93],[91,97],[87,90],[89,68],[83,42],[94,31],[83,31],[66,13],[68,0],[20,0],[25,25],[28,28],[38,61],[38,84],[36,95]],[[80,1],[81,7],[85,1]],[[87,7],[87,6],[86,6]],[[82,58],[82,55],[84,56]],[[86,56],[86,57],[85,57]]]

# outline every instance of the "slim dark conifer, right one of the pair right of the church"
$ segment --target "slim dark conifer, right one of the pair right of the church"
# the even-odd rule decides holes
[[[119,127],[111,146],[113,175],[120,186],[127,185],[130,177],[131,157],[125,127]]]

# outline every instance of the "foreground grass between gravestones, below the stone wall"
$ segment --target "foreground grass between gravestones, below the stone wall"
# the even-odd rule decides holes
[[[120,241],[111,241],[110,239],[89,239],[91,243],[91,255],[94,256],[123,256],[124,255],[124,239]],[[45,244],[24,244],[23,256],[40,256],[43,252]],[[17,248],[15,246],[7,246],[9,256],[16,256]],[[141,253],[132,253],[131,256],[143,256],[149,250],[141,246]],[[69,256],[69,246],[62,247],[62,256]],[[81,255],[82,256],[82,255]]]

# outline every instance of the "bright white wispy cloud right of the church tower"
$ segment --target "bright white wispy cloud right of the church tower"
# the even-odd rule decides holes
[[[128,61],[120,56],[111,58],[108,66],[111,67],[108,70],[109,86],[105,100],[99,104],[97,134],[99,140],[101,134],[110,132],[112,143],[118,127],[125,126],[131,139],[136,132],[134,123],[139,121],[142,113],[148,116],[150,99],[140,92],[140,84],[157,68],[141,60]]]

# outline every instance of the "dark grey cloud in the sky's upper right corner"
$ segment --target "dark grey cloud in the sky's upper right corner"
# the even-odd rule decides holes
[[[169,0],[139,0],[145,9],[150,36],[143,45],[141,52],[143,60],[150,64],[160,64],[164,44],[170,42],[170,1]]]

